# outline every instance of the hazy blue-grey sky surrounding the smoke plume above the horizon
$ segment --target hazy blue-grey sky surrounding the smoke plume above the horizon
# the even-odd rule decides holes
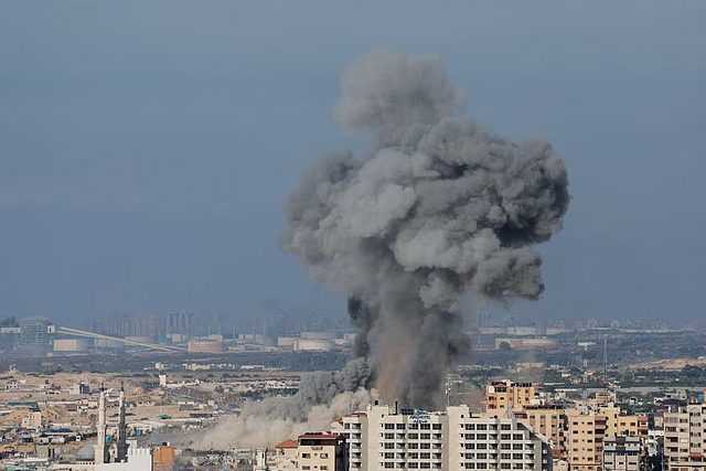
[[[432,53],[565,157],[523,315],[702,320],[706,2],[0,2],[0,317],[340,310],[278,248],[341,71]]]

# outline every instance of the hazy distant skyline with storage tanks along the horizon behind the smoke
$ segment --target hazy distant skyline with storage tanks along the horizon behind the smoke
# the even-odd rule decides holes
[[[480,313],[466,321],[478,342],[489,339],[498,347],[526,349],[550,345],[571,332],[703,332],[705,323],[675,324],[654,320],[535,320],[516,315]],[[355,339],[346,319],[310,317],[293,322],[284,314],[260,320],[204,318],[191,311],[159,314],[122,314],[92,321],[86,330],[56,325],[43,317],[0,321],[0,353],[36,356],[93,351],[162,350],[221,353],[245,349],[331,351],[346,349]]]

